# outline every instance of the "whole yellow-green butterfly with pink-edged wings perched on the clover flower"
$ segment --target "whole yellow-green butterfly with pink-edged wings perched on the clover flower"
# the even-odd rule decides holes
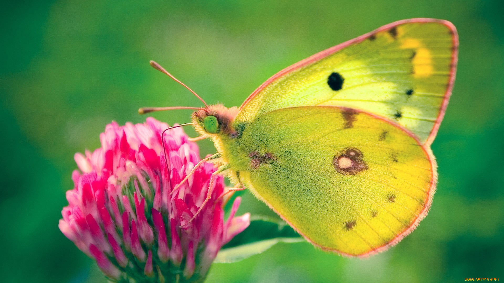
[[[229,192],[247,188],[314,246],[366,256],[397,244],[430,208],[430,145],[457,52],[448,21],[394,22],[281,70],[239,108],[207,105],[151,61],[205,107],[139,112],[196,110],[188,124],[217,149],[202,162],[220,165]]]

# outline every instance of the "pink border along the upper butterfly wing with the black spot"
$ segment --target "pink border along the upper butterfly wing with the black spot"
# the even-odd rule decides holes
[[[453,90],[453,84],[455,82],[455,73],[456,73],[456,70],[457,70],[457,61],[458,61],[458,52],[459,52],[459,36],[458,36],[458,33],[457,33],[457,29],[455,28],[455,26],[449,22],[449,21],[446,21],[446,20],[439,20],[439,19],[430,19],[430,18],[415,18],[415,19],[407,19],[407,20],[401,20],[401,21],[397,21],[397,22],[393,22],[393,23],[390,23],[388,25],[385,25],[385,26],[382,26],[380,28],[377,28],[371,32],[368,32],[366,34],[363,34],[359,37],[356,37],[354,39],[351,39],[351,40],[348,40],[346,42],[343,42],[343,43],[340,43],[336,46],[333,46],[331,48],[328,48],[326,50],[323,50],[319,53],[316,53],[316,54],[313,54],[295,64],[292,64],[286,68],[284,68],[283,70],[281,70],[280,72],[278,72],[277,74],[273,75],[271,78],[269,78],[268,80],[266,80],[266,82],[264,82],[263,84],[261,84],[252,94],[250,94],[247,99],[245,99],[245,101],[243,101],[243,103],[241,104],[239,110],[242,110],[243,107],[250,101],[252,100],[260,91],[262,91],[266,86],[268,86],[269,84],[271,84],[273,81],[275,81],[276,79],[282,77],[283,75],[287,74],[287,73],[290,73],[300,67],[303,67],[305,65],[308,65],[308,64],[311,64],[315,61],[318,61],[326,56],[329,56],[351,44],[354,44],[354,43],[359,43],[359,42],[362,42],[364,41],[365,39],[367,39],[368,37],[370,37],[371,35],[377,33],[377,32],[381,32],[381,31],[384,31],[384,30],[389,30],[391,28],[394,28],[394,27],[397,27],[399,25],[402,25],[402,24],[407,24],[407,23],[439,23],[439,24],[443,24],[445,26],[447,26],[451,33],[452,33],[452,41],[453,41],[453,52],[452,52],[452,63],[451,63],[451,69],[450,69],[450,79],[448,81],[448,87],[447,87],[447,90],[445,92],[445,96],[443,97],[443,102],[441,104],[441,108],[439,109],[439,113],[437,114],[437,118],[434,122],[434,126],[432,127],[432,129],[430,130],[430,133],[429,133],[429,136],[427,137],[427,139],[425,140],[425,142],[423,143],[423,145],[430,145],[432,144],[432,142],[434,141],[434,138],[436,137],[436,134],[437,134],[437,130],[439,129],[439,125],[441,124],[441,121],[443,120],[443,117],[445,116],[445,112],[446,112],[446,107],[448,106],[448,102],[450,101],[450,96],[452,95],[452,90]]]

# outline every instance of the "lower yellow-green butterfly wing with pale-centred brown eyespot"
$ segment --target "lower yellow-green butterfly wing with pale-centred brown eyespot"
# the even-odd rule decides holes
[[[407,129],[340,107],[291,107],[251,122],[233,149],[240,179],[308,241],[362,256],[426,215],[435,161]],[[240,166],[233,166],[238,168]]]

